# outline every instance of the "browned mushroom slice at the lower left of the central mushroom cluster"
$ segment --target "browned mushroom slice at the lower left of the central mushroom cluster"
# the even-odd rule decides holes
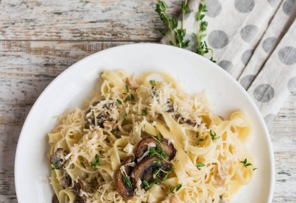
[[[130,164],[134,161],[134,157],[128,157],[121,167],[124,167],[125,174],[130,176],[130,172],[132,171],[132,167]],[[116,173],[116,189],[118,193],[125,199],[132,199],[134,197],[134,185],[127,186],[126,183],[123,181],[123,173],[121,172],[120,168]]]

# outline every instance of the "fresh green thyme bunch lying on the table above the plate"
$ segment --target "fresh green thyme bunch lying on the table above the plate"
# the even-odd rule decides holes
[[[182,7],[182,19],[181,19],[181,25],[180,29],[178,29],[178,20],[176,16],[170,17],[168,13],[166,13],[166,9],[168,6],[166,3],[162,0],[157,0],[156,9],[155,11],[158,13],[160,20],[164,23],[166,26],[166,29],[160,29],[160,33],[162,35],[166,36],[166,38],[169,40],[169,43],[173,46],[180,47],[180,48],[187,48],[190,45],[189,40],[184,40],[186,35],[186,29],[184,29],[184,17],[187,13],[190,13],[191,10],[189,8],[188,1],[182,1],[181,4]],[[205,6],[205,0],[201,0],[201,3],[198,6],[198,11],[195,15],[195,20],[197,24],[197,31],[196,33],[192,33],[192,37],[195,41],[195,47],[194,52],[196,54],[199,54],[201,56],[204,56],[205,54],[211,53],[210,61],[216,62],[213,59],[213,51],[210,49],[205,43],[205,40],[203,40],[206,36],[206,29],[208,27],[208,22],[203,20],[205,17],[205,12],[207,11],[207,7]]]

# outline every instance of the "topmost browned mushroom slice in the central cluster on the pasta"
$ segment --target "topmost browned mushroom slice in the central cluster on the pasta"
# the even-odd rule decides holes
[[[176,149],[173,146],[173,144],[171,142],[169,143],[169,141],[166,139],[161,139],[160,143],[161,143],[160,147],[166,152],[166,156],[168,156],[169,160],[172,160],[173,158],[175,158]],[[142,156],[148,150],[148,145],[150,147],[155,147],[159,145],[159,141],[155,140],[155,138],[153,137],[146,137],[143,140],[141,140],[137,145],[137,148],[134,154],[137,160],[143,158]]]

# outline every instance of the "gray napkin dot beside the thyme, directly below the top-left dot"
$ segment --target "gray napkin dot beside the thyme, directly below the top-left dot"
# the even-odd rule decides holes
[[[211,47],[221,49],[228,44],[228,36],[224,31],[214,30],[209,34],[208,42]]]

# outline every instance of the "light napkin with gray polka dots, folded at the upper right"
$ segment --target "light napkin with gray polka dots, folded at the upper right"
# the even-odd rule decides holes
[[[189,1],[192,13],[184,22],[189,40],[196,33],[199,3]],[[217,64],[247,90],[270,125],[296,91],[296,0],[208,0],[206,5],[205,40]]]

